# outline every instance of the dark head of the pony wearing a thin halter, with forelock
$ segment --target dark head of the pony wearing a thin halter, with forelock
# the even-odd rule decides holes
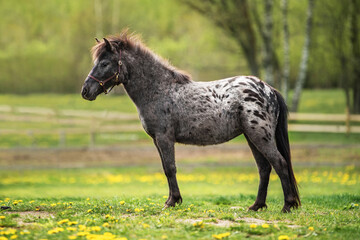
[[[96,39],[92,48],[94,67],[85,79],[81,90],[84,99],[93,101],[101,94],[125,81],[125,68],[121,60],[121,41]]]

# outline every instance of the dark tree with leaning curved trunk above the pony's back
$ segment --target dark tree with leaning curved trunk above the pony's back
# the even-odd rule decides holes
[[[241,47],[251,74],[259,75],[256,34],[247,0],[179,0],[208,17]]]

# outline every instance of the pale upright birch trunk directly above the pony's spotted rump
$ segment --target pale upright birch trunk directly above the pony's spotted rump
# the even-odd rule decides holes
[[[264,28],[264,69],[265,69],[265,81],[274,86],[274,70],[272,59],[272,6],[273,0],[265,0],[265,28]]]

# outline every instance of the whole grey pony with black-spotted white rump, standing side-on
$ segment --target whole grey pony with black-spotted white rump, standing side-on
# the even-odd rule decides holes
[[[169,184],[165,207],[181,203],[176,180],[175,142],[219,144],[244,134],[256,160],[260,184],[250,210],[266,207],[271,169],[284,192],[283,212],[300,205],[291,166],[287,107],[274,88],[254,76],[195,82],[123,31],[93,48],[94,67],[82,96],[95,100],[122,83],[137,106],[145,131],[153,138]]]

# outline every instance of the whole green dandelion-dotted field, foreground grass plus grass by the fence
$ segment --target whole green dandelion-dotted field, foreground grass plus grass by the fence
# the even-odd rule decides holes
[[[300,112],[344,113],[344,102],[341,90],[305,91]],[[136,112],[127,96],[100,96],[88,102],[80,95],[0,95],[0,105]],[[9,115],[18,116],[16,112]],[[21,121],[0,120],[0,129],[77,127],[26,121],[24,116]],[[289,214],[280,212],[282,189],[274,173],[268,209],[247,211],[255,200],[259,177],[249,150],[244,146],[234,150],[235,144],[246,144],[244,137],[212,151],[177,148],[184,202],[165,210],[166,178],[145,133],[103,133],[95,141],[97,146],[121,146],[127,151],[83,151],[88,135],[67,135],[61,151],[56,149],[58,134],[0,136],[4,150],[0,163],[10,161],[0,169],[0,206],[11,207],[0,210],[0,240],[360,239],[360,134],[290,132],[302,206]],[[138,145],[128,148],[134,144]],[[55,150],[32,152],[34,145]],[[136,152],[136,146],[142,146],[143,152]],[[104,167],[116,165],[120,152],[127,158],[119,159],[122,167]],[[89,166],[97,167],[75,169],[80,155],[85,160],[93,155],[91,161],[96,164]],[[32,161],[39,163],[31,165]],[[59,161],[72,168],[54,168],[61,166]]]

